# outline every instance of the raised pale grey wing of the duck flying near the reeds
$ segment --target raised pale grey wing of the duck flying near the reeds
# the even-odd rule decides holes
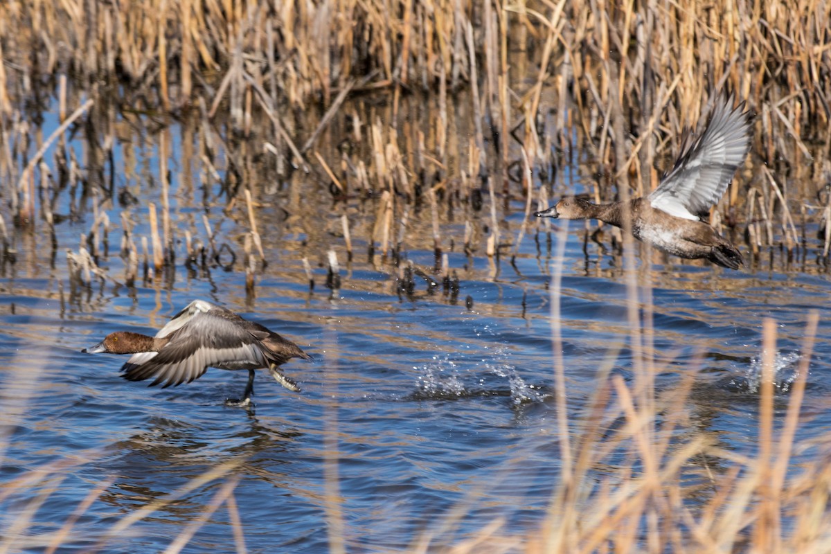
[[[699,221],[725,194],[750,150],[750,114],[744,102],[732,105],[733,95],[722,96],[703,133],[685,137],[675,166],[647,196],[652,208]]]

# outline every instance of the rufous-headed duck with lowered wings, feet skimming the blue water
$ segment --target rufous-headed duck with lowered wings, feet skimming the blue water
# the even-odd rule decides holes
[[[125,379],[153,379],[149,386],[162,385],[163,389],[190,383],[209,367],[248,370],[243,398],[226,400],[226,404],[243,407],[252,405],[254,370],[268,368],[280,385],[300,392],[297,383],[278,367],[292,358],[312,359],[283,336],[204,300],[190,302],[155,336],[116,331],[81,352],[131,354],[121,367]]]

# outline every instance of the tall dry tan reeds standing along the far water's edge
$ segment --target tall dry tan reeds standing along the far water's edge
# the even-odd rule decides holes
[[[0,5],[2,195],[18,226],[37,218],[37,183],[56,194],[81,168],[111,197],[120,121],[185,117],[205,135],[191,154],[231,202],[244,189],[258,202],[262,171],[252,160],[262,153],[267,179],[301,169],[330,182],[336,199],[391,194],[370,238],[386,254],[396,233],[408,233],[412,203],[530,198],[534,176],[565,189],[563,166],[587,154],[597,200],[643,194],[682,130],[729,89],[755,112],[756,137],[713,222],[745,233],[754,255],[775,244],[789,257],[804,247],[797,224],[815,223],[826,232],[825,259],[829,28],[829,7],[810,0],[10,0]],[[376,91],[389,95],[384,109],[355,110],[351,99]],[[41,159],[53,140],[64,144],[63,130],[41,135],[56,101],[61,121],[82,127],[89,143],[80,162],[66,149]],[[470,106],[469,140],[459,135],[459,101]],[[412,107],[403,111],[415,103],[430,110],[418,125]],[[337,145],[342,135],[351,135],[348,150]],[[214,167],[223,155],[229,164]],[[63,182],[50,189],[47,170]],[[160,218],[157,268],[174,241],[165,206]],[[522,236],[500,234],[495,220],[491,255]]]

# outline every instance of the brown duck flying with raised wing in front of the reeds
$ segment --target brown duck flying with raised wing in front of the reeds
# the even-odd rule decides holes
[[[745,102],[734,103],[733,95],[719,96],[697,138],[685,135],[681,154],[651,194],[607,204],[565,196],[534,215],[598,219],[620,228],[630,223],[635,238],[661,252],[739,269],[744,263],[739,249],[705,221],[750,150],[750,113]]]

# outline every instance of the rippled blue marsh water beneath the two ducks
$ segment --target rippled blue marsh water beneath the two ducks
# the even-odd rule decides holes
[[[180,170],[174,168],[175,177]],[[198,207],[174,181],[177,238],[187,228],[205,240],[201,213],[207,213],[214,225],[221,222],[219,239],[239,254],[248,231],[244,209],[225,218],[222,205]],[[138,236],[148,233],[145,201],[158,202],[160,194],[141,190],[146,197],[129,208]],[[457,220],[442,224],[442,236],[460,278],[458,296],[442,287],[430,292],[418,277],[415,291],[401,294],[390,258],[366,255],[376,202],[329,198],[327,184],[302,175],[258,194],[268,265],[257,273],[253,296],[241,261],[230,271],[189,272],[181,243],[172,279],[125,287],[117,225],[110,255],[101,258],[109,277],[77,287],[64,250],[77,250],[91,217],[58,226],[54,267],[37,223],[33,233],[17,231],[17,262],[0,279],[4,546],[42,552],[85,498],[89,506],[62,538],[61,552],[160,552],[181,533],[193,533],[183,552],[231,552],[240,541],[248,552],[326,552],[332,537],[357,552],[389,552],[423,537],[453,544],[497,518],[512,533],[538,529],[562,458],[552,305],[558,302],[562,314],[569,432],[578,439],[581,414],[603,382],[598,375],[606,375],[602,368],[630,384],[637,379],[622,258],[593,243],[584,253],[582,223],[550,236],[534,224],[513,264],[509,254],[485,257],[484,241],[469,256],[461,251],[464,227]],[[112,222],[120,220],[120,207],[102,208]],[[280,216],[281,209],[291,216]],[[509,203],[504,237],[516,238],[523,211],[522,199]],[[342,213],[351,218],[352,262],[337,234]],[[411,225],[430,229],[430,210],[411,213]],[[809,248],[815,255],[819,244]],[[324,286],[329,249],[342,266],[337,291]],[[430,273],[429,232],[413,232],[405,251]],[[656,395],[692,379],[685,404],[676,406],[687,414],[679,440],[706,434],[720,448],[752,456],[763,318],[777,321],[780,423],[809,310],[819,310],[820,321],[804,400],[813,419],[799,439],[810,444],[829,433],[829,277],[811,255],[804,267],[748,263],[738,272],[654,253],[648,263],[637,244],[633,255],[636,313],[652,320],[648,357]],[[314,268],[311,290],[302,257]],[[194,383],[160,390],[123,380],[123,358],[81,353],[111,331],[153,334],[195,298],[221,303],[302,346],[313,360],[283,366],[302,393],[263,373],[255,408],[232,408],[224,400],[243,390],[244,372],[209,370]],[[794,465],[814,453],[800,450]],[[628,462],[612,456],[606,463],[598,474]],[[691,468],[686,477],[695,482],[700,473]],[[225,497],[207,515],[229,483],[233,500]],[[237,517],[242,539],[234,535]]]

